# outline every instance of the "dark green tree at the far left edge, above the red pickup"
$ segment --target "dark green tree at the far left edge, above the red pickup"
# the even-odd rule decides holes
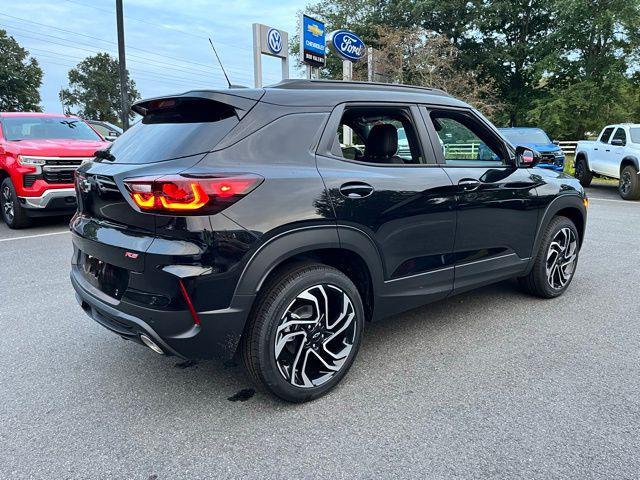
[[[0,111],[40,111],[42,69],[16,40],[0,30]]]

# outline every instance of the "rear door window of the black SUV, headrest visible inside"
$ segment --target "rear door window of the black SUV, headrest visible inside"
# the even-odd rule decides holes
[[[348,160],[381,165],[425,163],[408,108],[347,107],[332,152]]]

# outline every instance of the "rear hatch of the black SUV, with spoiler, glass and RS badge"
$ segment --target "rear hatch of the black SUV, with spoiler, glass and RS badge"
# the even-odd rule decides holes
[[[209,217],[143,212],[125,181],[175,176],[200,162],[263,94],[241,93],[189,92],[132,107],[142,120],[77,171],[76,281],[91,285],[94,295],[106,294],[106,302],[124,295],[147,307],[185,309],[174,300],[176,278],[162,266],[199,264],[212,237]]]

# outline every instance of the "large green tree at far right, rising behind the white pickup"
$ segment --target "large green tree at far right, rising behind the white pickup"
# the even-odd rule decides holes
[[[607,123],[638,121],[639,0],[558,0],[548,95],[531,123],[559,139],[581,139]]]

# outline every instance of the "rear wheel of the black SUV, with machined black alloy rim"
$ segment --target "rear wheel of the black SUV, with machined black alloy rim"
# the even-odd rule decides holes
[[[363,328],[362,300],[346,275],[322,264],[295,264],[260,293],[243,339],[242,359],[258,385],[283,400],[306,402],[327,393],[346,375]],[[337,370],[330,372],[325,365]]]

